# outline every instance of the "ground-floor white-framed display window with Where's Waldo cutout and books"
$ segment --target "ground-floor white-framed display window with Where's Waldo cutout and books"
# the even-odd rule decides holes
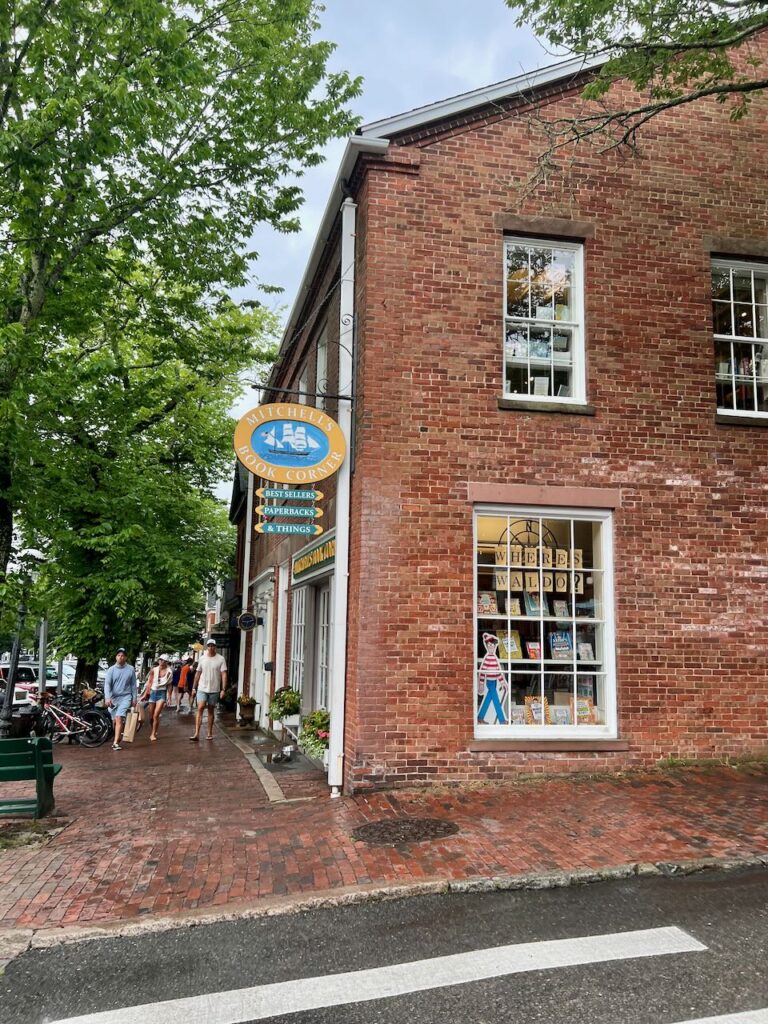
[[[614,738],[612,516],[475,509],[475,735]]]

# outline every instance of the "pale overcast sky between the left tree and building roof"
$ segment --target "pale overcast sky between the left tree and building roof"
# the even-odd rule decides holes
[[[450,96],[469,92],[554,63],[532,34],[515,28],[515,14],[504,0],[326,0],[322,39],[336,43],[330,70],[361,76],[362,93],[353,110],[364,124],[392,117]],[[281,234],[259,228],[253,249],[259,253],[254,276],[284,289],[264,296],[255,288],[241,296],[258,297],[283,313],[293,304],[312,248],[345,140],[331,143],[326,161],[302,178],[305,202],[302,229]],[[248,390],[232,415],[256,402]],[[228,500],[227,481],[219,489]]]

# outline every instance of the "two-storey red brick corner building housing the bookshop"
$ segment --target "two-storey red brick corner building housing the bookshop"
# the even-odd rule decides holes
[[[364,127],[310,253],[264,401],[351,410],[347,478],[255,539],[245,677],[348,792],[766,748],[768,97],[528,193],[589,74]]]

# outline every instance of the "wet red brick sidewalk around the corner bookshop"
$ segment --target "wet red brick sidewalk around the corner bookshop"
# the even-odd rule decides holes
[[[273,776],[288,801],[272,803],[224,731],[199,743],[190,731],[188,716],[166,712],[157,743],[144,728],[119,753],[56,752],[67,826],[45,846],[0,853],[0,931],[367,884],[768,855],[768,771],[758,767],[340,800],[321,772],[291,769]],[[398,848],[351,839],[366,821],[403,816],[460,830]]]

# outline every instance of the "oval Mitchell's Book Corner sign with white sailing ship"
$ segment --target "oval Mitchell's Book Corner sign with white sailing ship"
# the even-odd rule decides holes
[[[318,409],[294,402],[258,406],[234,428],[234,454],[251,473],[276,483],[314,483],[344,462],[341,427]]]

